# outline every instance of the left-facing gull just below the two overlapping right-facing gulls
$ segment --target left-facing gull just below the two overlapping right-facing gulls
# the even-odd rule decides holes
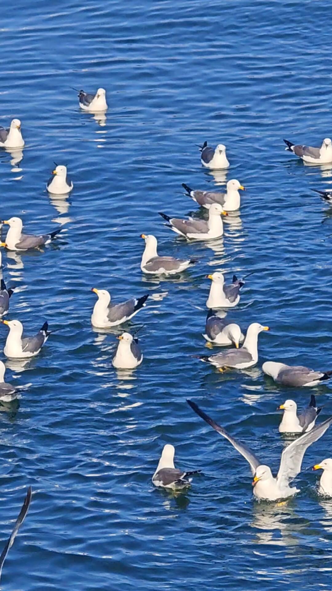
[[[152,234],[141,234],[145,240],[145,250],[142,255],[141,269],[144,273],[153,275],[176,275],[197,262],[197,258],[177,259],[174,256],[158,256],[157,238]]]

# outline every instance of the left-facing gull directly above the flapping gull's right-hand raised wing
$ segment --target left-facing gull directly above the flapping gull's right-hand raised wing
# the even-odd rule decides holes
[[[277,410],[284,411],[282,421],[279,424],[279,433],[308,433],[314,427],[321,408],[316,407],[316,399],[312,394],[309,405],[299,415],[294,400],[286,400]]]

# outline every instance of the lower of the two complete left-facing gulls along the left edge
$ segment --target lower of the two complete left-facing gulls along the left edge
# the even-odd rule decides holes
[[[0,320],[9,326],[4,353],[10,359],[24,359],[35,357],[54,330],[48,330],[48,323],[44,322],[37,335],[22,338],[23,325],[19,320]]]

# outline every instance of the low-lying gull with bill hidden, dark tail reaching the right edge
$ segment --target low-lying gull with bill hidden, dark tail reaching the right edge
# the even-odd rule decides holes
[[[314,371],[314,369],[302,365],[286,365],[286,363],[277,363],[276,361],[266,361],[262,365],[262,370],[278,384],[295,388],[317,386],[332,377],[332,371]]]

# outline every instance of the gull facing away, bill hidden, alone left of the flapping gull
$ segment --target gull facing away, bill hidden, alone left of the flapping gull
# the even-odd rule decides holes
[[[190,472],[183,472],[183,470],[178,470],[177,468],[175,468],[174,453],[174,446],[170,444],[164,446],[164,449],[161,453],[161,458],[157,466],[157,470],[152,476],[152,482],[155,486],[161,486],[162,488],[170,488],[173,491],[182,488],[187,488],[187,486],[190,486],[192,480],[192,478],[188,478],[188,476],[193,476],[194,474],[198,474],[201,472],[201,470],[191,470]]]

